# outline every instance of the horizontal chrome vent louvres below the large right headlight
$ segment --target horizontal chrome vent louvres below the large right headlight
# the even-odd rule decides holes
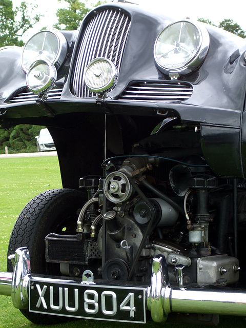
[[[118,99],[131,101],[183,101],[193,93],[192,85],[185,82],[134,83]]]

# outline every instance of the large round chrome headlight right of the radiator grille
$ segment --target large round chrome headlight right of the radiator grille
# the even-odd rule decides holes
[[[207,29],[188,20],[180,20],[167,26],[158,35],[154,57],[164,73],[187,74],[202,63],[208,50]]]

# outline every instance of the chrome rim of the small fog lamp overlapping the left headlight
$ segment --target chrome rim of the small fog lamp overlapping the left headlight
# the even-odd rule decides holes
[[[47,82],[45,84],[40,84],[40,87],[33,87],[30,85],[29,83],[29,79],[30,79],[30,75],[32,74],[32,70],[37,67],[38,65],[47,65],[48,69],[49,69],[49,75],[48,75],[48,79]],[[35,76],[34,76],[35,78]],[[38,78],[38,76],[37,76]],[[27,75],[26,75],[26,83],[27,83],[27,87],[28,89],[35,93],[35,94],[44,94],[46,92],[48,92],[51,88],[53,88],[55,82],[57,79],[57,71],[56,68],[53,64],[51,64],[49,61],[46,61],[44,59],[38,59],[36,61],[34,61],[34,63],[32,63],[32,65],[29,67],[28,71],[27,71]]]

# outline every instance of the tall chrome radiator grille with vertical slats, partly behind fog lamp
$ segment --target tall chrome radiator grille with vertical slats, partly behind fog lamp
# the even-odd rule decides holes
[[[87,24],[76,58],[72,93],[80,98],[94,96],[85,86],[84,73],[90,61],[97,57],[108,58],[120,69],[130,17],[120,9],[98,12]]]

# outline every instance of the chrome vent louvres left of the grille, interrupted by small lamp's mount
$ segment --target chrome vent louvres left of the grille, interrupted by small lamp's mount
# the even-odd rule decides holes
[[[59,100],[61,97],[61,92],[63,92],[63,88],[54,87],[53,89],[48,91],[47,100]],[[30,92],[28,89],[22,89],[19,93],[15,94],[9,100],[6,100],[6,103],[21,103],[23,101],[32,101],[36,100],[38,97],[37,94]]]

